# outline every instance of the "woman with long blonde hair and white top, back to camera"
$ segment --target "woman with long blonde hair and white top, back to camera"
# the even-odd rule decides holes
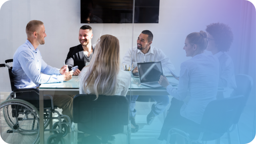
[[[130,84],[130,72],[120,69],[119,40],[112,35],[103,35],[96,43],[95,53],[88,66],[79,74],[80,94],[126,96]],[[104,139],[104,140],[103,140]],[[108,142],[108,137],[101,140]]]

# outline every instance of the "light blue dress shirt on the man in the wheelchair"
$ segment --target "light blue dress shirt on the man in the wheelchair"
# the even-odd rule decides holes
[[[38,48],[26,40],[14,53],[12,63],[16,88],[35,88],[39,84],[63,82],[60,69],[47,65]]]

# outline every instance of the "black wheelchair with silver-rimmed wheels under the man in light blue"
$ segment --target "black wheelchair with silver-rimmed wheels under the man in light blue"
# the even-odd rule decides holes
[[[12,92],[0,104],[1,137],[9,144],[38,144],[40,142],[39,90],[37,88],[16,89],[12,67],[7,64],[13,60],[5,62],[6,64],[0,64],[0,67],[8,68]],[[48,138],[47,144],[65,144],[63,137],[68,134],[71,120],[68,116],[55,110],[57,106],[54,106],[51,95],[44,95],[44,97],[48,97],[48,99],[44,99],[44,131],[54,133]],[[55,112],[58,116],[52,117],[52,113]],[[69,122],[62,122],[64,117]],[[58,119],[58,122],[54,123],[52,128],[46,129],[53,119]]]

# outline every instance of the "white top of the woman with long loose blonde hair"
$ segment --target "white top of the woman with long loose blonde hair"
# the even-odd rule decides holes
[[[87,71],[88,71],[88,67],[84,67],[79,74],[79,80],[80,80],[79,94],[86,94],[86,92],[82,87],[82,81]],[[116,92],[114,95],[126,96],[128,92],[128,88],[130,86],[130,81],[131,81],[130,78],[131,78],[130,72],[119,70],[117,74]],[[87,90],[87,94],[91,94],[91,92]]]

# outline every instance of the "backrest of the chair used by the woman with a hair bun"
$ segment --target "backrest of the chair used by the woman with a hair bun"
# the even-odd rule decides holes
[[[201,127],[205,132],[225,133],[243,108],[244,101],[241,95],[210,102],[204,111]]]

